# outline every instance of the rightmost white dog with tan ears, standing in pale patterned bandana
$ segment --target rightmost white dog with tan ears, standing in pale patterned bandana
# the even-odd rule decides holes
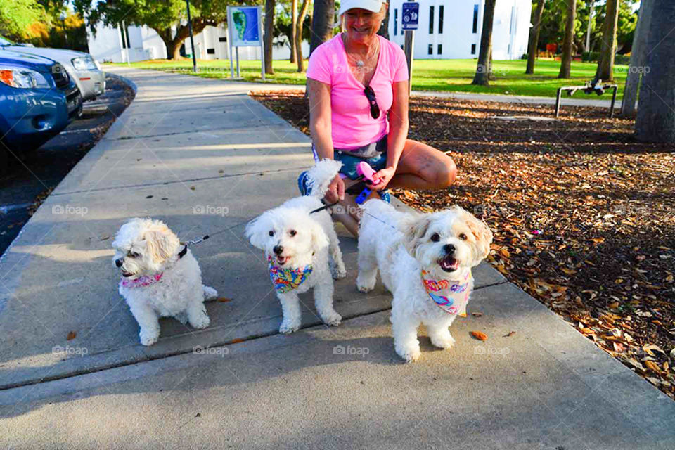
[[[471,268],[487,257],[492,232],[461,207],[406,214],[382,200],[368,200],[359,229],[359,276],[364,293],[380,276],[394,295],[392,333],[397,354],[420,357],[417,330],[427,327],[431,343],[449,349],[456,316],[466,315],[473,289]]]

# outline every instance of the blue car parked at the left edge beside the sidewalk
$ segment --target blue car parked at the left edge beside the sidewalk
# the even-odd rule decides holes
[[[0,49],[0,165],[7,149],[38,148],[81,114],[82,95],[62,65]]]

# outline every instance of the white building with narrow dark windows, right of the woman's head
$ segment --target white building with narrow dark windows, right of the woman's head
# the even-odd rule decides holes
[[[404,0],[391,0],[389,37],[404,44],[401,30]],[[415,31],[415,59],[477,58],[485,0],[420,0]],[[532,0],[499,0],[492,25],[492,58],[520,59],[527,53]]]

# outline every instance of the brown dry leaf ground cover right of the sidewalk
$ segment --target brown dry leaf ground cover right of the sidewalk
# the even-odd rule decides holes
[[[308,132],[302,94],[253,95]],[[489,262],[675,398],[675,148],[640,143],[607,110],[413,98],[411,139],[458,167],[446,191],[398,191],[431,211],[458,203],[494,231]]]

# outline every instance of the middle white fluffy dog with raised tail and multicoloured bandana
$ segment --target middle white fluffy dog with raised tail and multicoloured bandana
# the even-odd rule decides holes
[[[250,243],[265,252],[269,275],[281,302],[280,333],[293,333],[300,328],[298,294],[311,288],[321,320],[333,326],[342,320],[333,309],[333,278],[347,275],[338,235],[326,210],[312,212],[323,206],[320,199],[341,166],[341,162],[333,160],[318,162],[308,173],[312,182],[310,195],[287,200],[246,226]]]

